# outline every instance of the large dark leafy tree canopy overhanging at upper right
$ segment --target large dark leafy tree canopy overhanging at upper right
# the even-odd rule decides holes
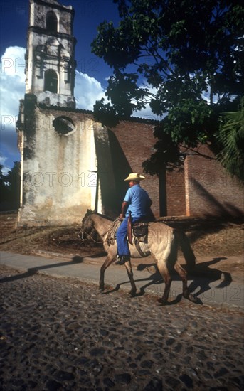
[[[179,146],[218,151],[218,118],[243,95],[241,1],[114,0],[120,23],[104,21],[92,52],[112,68],[107,98],[94,106],[107,126],[148,104],[160,117],[145,171],[179,165]]]

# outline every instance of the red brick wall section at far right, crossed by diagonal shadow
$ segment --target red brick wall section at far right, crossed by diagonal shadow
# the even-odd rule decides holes
[[[240,216],[244,212],[243,187],[216,161],[208,146],[197,151],[201,155],[189,155],[185,161],[187,214]]]

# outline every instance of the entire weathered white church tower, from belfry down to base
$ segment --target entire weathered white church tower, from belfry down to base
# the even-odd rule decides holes
[[[17,224],[80,224],[87,209],[102,211],[102,197],[108,192],[115,198],[107,131],[92,112],[75,108],[73,7],[55,0],[28,1],[26,94],[17,121],[21,151]],[[105,149],[102,157],[97,149]]]

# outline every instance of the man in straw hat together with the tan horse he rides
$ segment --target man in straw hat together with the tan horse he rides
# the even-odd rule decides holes
[[[186,270],[181,267],[181,264],[177,261],[179,246],[181,246],[189,270],[193,269],[196,264],[196,257],[191,249],[189,239],[184,232],[176,230],[161,221],[154,221],[148,226],[147,242],[144,242],[143,254],[137,249],[137,242],[134,242],[134,245],[129,236],[129,243],[127,242],[127,222],[130,213],[132,214],[132,221],[135,223],[142,218],[143,220],[144,218],[147,218],[147,214],[151,212],[150,206],[152,205],[152,201],[147,192],[139,186],[140,181],[143,179],[144,176],[139,173],[130,173],[125,179],[125,181],[129,182],[129,190],[122,203],[120,218],[121,220],[123,219],[123,221],[119,230],[117,230],[117,242],[114,240],[114,235],[117,225],[120,223],[119,219],[116,219],[112,223],[110,219],[105,218],[105,216],[100,215],[100,213],[95,213],[90,210],[87,210],[87,213],[83,218],[80,237],[82,239],[84,239],[85,235],[86,237],[91,237],[91,233],[95,230],[98,235],[102,237],[103,246],[107,252],[105,262],[100,269],[99,289],[101,291],[105,289],[105,270],[110,264],[116,262],[118,254],[120,260],[116,263],[124,264],[127,269],[129,281],[132,286],[129,293],[134,296],[137,294],[137,287],[134,283],[132,262],[130,262],[130,258],[142,258],[152,255],[165,284],[164,294],[158,299],[159,303],[161,305],[166,305],[168,303],[172,281],[171,271],[173,269],[179,274],[179,277],[181,277],[183,287],[182,295],[186,299],[196,302],[196,298],[189,292],[187,286]],[[151,218],[149,218],[149,220],[151,220]],[[111,240],[111,232],[113,240]]]

